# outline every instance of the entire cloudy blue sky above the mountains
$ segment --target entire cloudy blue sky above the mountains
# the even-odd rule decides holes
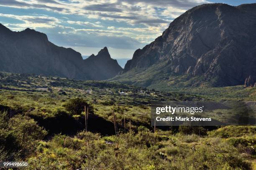
[[[131,58],[186,10],[212,2],[237,6],[256,0],[0,0],[0,23],[13,31],[44,32],[82,55],[107,46],[111,57]]]

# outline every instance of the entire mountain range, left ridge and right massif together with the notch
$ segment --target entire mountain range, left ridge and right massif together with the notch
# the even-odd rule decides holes
[[[0,71],[117,80],[145,87],[256,85],[256,4],[206,4],[175,19],[125,68],[104,47],[83,60],[44,33],[0,24]]]

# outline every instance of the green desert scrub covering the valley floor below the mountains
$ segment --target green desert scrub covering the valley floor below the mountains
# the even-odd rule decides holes
[[[0,72],[0,160],[28,161],[29,170],[255,169],[255,126],[159,127],[154,133],[151,101],[253,100],[256,91],[190,90]]]

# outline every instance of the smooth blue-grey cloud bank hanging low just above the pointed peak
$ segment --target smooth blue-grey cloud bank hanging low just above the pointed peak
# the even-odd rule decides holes
[[[56,34],[60,31],[61,33]],[[67,33],[62,33],[67,31]],[[122,32],[122,31],[119,31]],[[66,29],[66,28],[51,28],[46,34],[49,40],[61,46],[76,46],[76,47],[114,47],[122,49],[136,49],[143,47],[144,43],[136,40],[133,37],[126,35],[117,35],[114,31],[106,31],[101,29]]]

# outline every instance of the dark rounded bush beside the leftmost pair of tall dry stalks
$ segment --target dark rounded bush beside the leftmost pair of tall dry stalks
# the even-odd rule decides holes
[[[70,99],[64,105],[66,110],[71,112],[72,115],[80,115],[84,111],[84,106],[89,107],[89,112],[93,113],[92,105],[81,98]]]

